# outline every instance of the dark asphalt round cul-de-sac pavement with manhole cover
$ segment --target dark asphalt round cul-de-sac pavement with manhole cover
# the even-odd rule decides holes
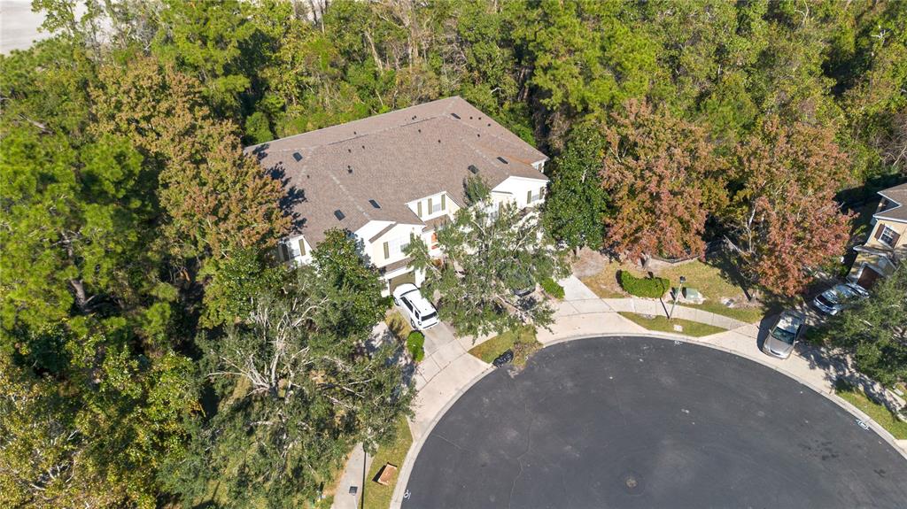
[[[416,458],[405,509],[905,507],[907,460],[756,362],[683,342],[571,341],[495,370]]]

